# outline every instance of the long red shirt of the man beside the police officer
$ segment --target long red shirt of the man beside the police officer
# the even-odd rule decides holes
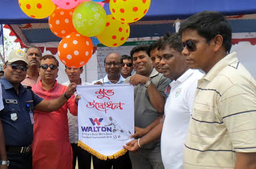
[[[49,91],[42,89],[42,82],[32,86],[32,90],[44,100],[58,98],[65,93],[67,86],[57,83]],[[34,111],[34,139],[32,144],[33,168],[72,169],[72,148],[69,142],[67,109],[77,116],[77,105],[72,98],[54,112]]]

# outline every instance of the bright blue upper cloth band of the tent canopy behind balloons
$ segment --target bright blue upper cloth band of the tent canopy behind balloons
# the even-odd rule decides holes
[[[140,0],[138,0],[140,1]],[[0,24],[47,23],[48,19],[32,19],[19,7],[18,0],[1,0]],[[107,4],[107,3],[106,3]],[[109,6],[105,5],[109,14]],[[151,0],[148,13],[142,20],[176,20],[186,19],[191,14],[203,10],[218,10],[225,15],[256,13],[255,0]]]

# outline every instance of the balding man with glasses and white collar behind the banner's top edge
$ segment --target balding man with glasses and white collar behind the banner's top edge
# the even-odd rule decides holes
[[[123,60],[118,53],[109,53],[104,59],[104,67],[106,76],[99,80],[94,80],[92,83],[101,82],[103,84],[118,84],[123,83],[125,78],[120,75]]]

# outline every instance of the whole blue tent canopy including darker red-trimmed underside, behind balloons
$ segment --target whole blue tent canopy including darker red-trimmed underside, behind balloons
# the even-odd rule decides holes
[[[104,9],[107,14],[110,14],[109,3],[105,3]],[[166,32],[175,32],[173,24],[175,20],[186,19],[203,10],[217,10],[226,16],[234,16],[229,20],[233,32],[256,32],[256,15],[243,16],[256,13],[255,0],[151,0],[150,9],[143,19],[130,24],[130,38],[162,36]],[[0,2],[0,24],[9,24],[25,45],[61,41],[61,38],[52,34],[47,23],[48,18],[33,19],[24,14],[18,0],[1,0]]]

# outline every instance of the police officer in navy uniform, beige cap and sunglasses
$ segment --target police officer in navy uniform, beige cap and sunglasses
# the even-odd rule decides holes
[[[33,141],[34,109],[44,112],[56,111],[74,94],[76,85],[71,83],[64,94],[55,100],[46,101],[38,97],[31,87],[22,82],[27,74],[26,53],[22,50],[10,52],[8,61],[3,65],[5,72],[0,80],[4,109],[0,113],[3,132],[0,138],[1,166],[12,168],[32,168],[31,144]],[[1,135],[2,134],[2,135]],[[7,158],[4,150],[4,143]]]

